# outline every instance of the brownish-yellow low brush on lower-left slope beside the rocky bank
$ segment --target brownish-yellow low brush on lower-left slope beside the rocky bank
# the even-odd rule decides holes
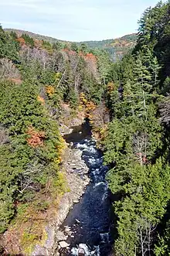
[[[20,203],[17,207],[17,215],[5,233],[4,245],[10,253],[30,255],[36,245],[45,243],[46,226],[57,216],[59,200],[68,191],[61,172],[47,186],[36,193],[32,202]]]

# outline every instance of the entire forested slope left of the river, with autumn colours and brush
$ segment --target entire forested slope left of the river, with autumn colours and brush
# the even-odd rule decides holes
[[[59,125],[81,111],[90,117],[100,106],[105,115],[109,65],[104,51],[0,28],[1,253],[30,254],[46,240],[44,227],[69,189],[60,172],[65,144]]]

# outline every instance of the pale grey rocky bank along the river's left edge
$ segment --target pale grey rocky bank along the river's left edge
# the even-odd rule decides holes
[[[63,131],[63,134],[66,134],[66,129]],[[59,201],[56,219],[46,227],[48,237],[46,243],[43,246],[36,245],[32,256],[57,255],[57,251],[61,246],[66,247],[66,242],[64,243],[64,241],[66,241],[67,236],[60,232],[59,226],[66,219],[73,204],[79,202],[86,186],[90,183],[90,179],[87,175],[89,169],[81,158],[81,155],[82,152],[79,149],[69,148],[68,146],[65,149],[61,172],[66,177],[68,192],[65,193]],[[54,244],[55,246],[53,246]]]

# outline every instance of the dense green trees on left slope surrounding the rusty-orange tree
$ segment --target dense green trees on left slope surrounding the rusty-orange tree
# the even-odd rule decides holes
[[[59,131],[56,122],[49,118],[37,101],[38,91],[38,87],[31,84],[1,84],[0,121],[8,129],[10,139],[10,146],[0,147],[1,220],[4,228],[14,214],[15,201],[26,200],[26,197],[30,200],[30,189],[35,193],[36,189],[45,186],[47,179],[55,177],[57,173],[54,160],[59,157]],[[42,147],[33,148],[29,145],[29,127],[45,132]],[[29,196],[26,196],[27,193]]]

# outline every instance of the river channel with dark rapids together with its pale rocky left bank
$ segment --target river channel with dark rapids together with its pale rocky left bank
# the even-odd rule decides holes
[[[37,245],[32,255],[108,256],[111,200],[103,153],[92,138],[88,121],[60,132],[67,142],[61,172],[69,190],[59,201],[56,220],[46,227],[46,244]]]

